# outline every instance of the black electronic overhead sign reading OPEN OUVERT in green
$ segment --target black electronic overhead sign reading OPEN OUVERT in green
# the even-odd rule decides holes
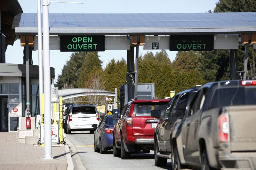
[[[60,36],[60,51],[105,51],[105,36]]]

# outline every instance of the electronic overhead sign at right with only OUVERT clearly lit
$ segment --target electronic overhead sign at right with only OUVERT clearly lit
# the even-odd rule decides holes
[[[170,51],[212,51],[213,35],[171,35]]]

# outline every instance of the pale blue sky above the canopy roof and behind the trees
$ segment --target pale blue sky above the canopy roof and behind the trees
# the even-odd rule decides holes
[[[55,0],[53,0],[55,1]],[[49,13],[197,13],[214,9],[218,0],[56,0],[64,2],[83,2],[84,4],[50,3]],[[36,0],[18,0],[24,13],[37,13]],[[41,0],[42,3],[42,0]],[[41,8],[42,11],[42,8]],[[150,50],[139,48],[139,55]],[[160,50],[152,50],[153,54]],[[166,50],[171,61],[175,59],[176,51]],[[134,49],[135,52],[135,49]],[[55,68],[55,80],[61,74],[63,65],[69,60],[72,52],[50,51],[50,65]],[[102,67],[105,68],[110,60],[127,60],[126,50],[105,50],[99,52]],[[23,64],[23,47],[20,40],[14,45],[8,45],[6,50],[6,63]],[[38,65],[38,51],[32,51],[33,65]],[[135,54],[134,54],[135,57]]]

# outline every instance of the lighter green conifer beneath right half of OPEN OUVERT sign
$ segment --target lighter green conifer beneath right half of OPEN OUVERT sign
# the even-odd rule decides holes
[[[77,87],[84,88],[85,82],[87,81],[88,76],[92,73],[92,71],[102,70],[101,64],[102,61],[99,59],[98,52],[88,52],[81,68],[76,70],[79,73]]]

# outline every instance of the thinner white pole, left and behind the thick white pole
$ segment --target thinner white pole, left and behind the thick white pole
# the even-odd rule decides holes
[[[41,115],[41,94],[44,93],[43,85],[43,56],[42,56],[42,25],[41,25],[41,0],[37,0],[37,32],[38,32],[38,73],[39,73],[39,101]]]

